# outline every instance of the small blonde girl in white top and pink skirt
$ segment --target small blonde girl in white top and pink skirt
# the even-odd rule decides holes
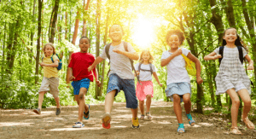
[[[149,109],[151,105],[151,97],[153,97],[154,94],[154,88],[153,88],[153,83],[152,83],[152,74],[157,81],[157,83],[162,87],[162,84],[160,84],[160,81],[157,77],[157,74],[155,72],[155,67],[152,64],[152,61],[154,60],[153,56],[150,54],[148,50],[143,50],[141,57],[140,57],[140,62],[137,63],[135,66],[135,70],[137,72],[137,75],[139,75],[139,82],[137,82],[137,88],[136,88],[136,96],[137,99],[139,100],[139,107],[141,110],[141,118],[140,119],[145,119],[145,114],[144,114],[144,100],[147,98],[146,101],[146,118],[151,120],[153,119]]]

